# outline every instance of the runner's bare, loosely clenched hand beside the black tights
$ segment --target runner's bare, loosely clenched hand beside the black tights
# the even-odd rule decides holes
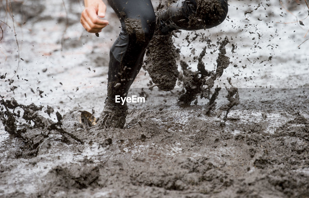
[[[98,33],[108,25],[108,21],[99,19],[105,17],[106,6],[102,0],[84,0],[85,9],[80,17],[80,23],[90,33]]]

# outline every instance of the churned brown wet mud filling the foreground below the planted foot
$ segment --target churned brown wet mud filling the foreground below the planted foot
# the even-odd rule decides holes
[[[137,106],[129,110],[125,129],[85,127],[74,113],[63,115],[61,126],[67,132],[63,135],[59,130],[42,133],[39,126],[27,126],[23,137],[36,148],[28,146],[25,138],[14,138],[15,134],[2,143],[1,186],[10,188],[1,188],[0,193],[8,197],[307,197],[309,117],[304,105],[309,104],[307,95],[291,96],[297,93],[302,92],[260,91],[276,100],[242,100],[224,126],[220,122],[224,116],[201,115],[201,105]],[[258,108],[267,112],[266,120],[262,114],[248,119],[247,114]],[[188,114],[189,119],[179,120],[171,111],[181,112],[182,117]],[[288,121],[271,120],[276,113],[286,114]],[[272,122],[279,124],[270,132]],[[11,177],[17,167],[23,175],[18,182]]]

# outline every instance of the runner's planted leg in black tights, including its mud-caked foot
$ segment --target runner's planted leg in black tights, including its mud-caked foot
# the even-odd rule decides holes
[[[121,22],[121,32],[111,47],[108,90],[99,122],[103,128],[123,128],[127,105],[115,103],[125,97],[142,67],[146,48],[155,31],[155,12],[150,0],[108,0]]]

